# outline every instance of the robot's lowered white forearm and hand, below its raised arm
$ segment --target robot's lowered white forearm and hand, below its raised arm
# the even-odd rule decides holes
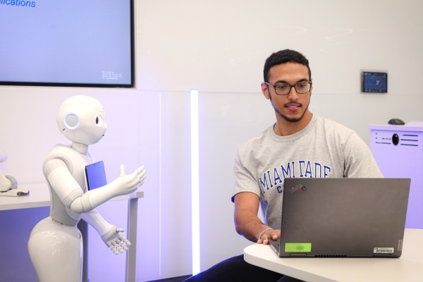
[[[97,233],[102,236],[103,242],[115,255],[118,255],[119,252],[122,253],[123,250],[128,250],[127,246],[130,245],[130,242],[121,234],[123,229],[105,221],[96,210],[82,214],[82,219],[94,227]]]

